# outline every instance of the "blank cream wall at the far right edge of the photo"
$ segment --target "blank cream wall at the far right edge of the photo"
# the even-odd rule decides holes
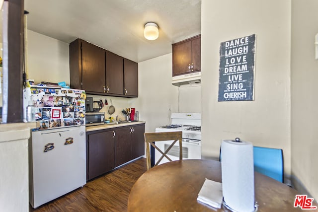
[[[318,1],[292,1],[292,180],[293,185],[318,199]]]

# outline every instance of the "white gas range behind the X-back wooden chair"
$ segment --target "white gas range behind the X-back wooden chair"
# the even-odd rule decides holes
[[[182,131],[182,157],[183,159],[201,159],[201,114],[200,113],[172,113],[171,124],[156,128],[156,132]],[[156,145],[163,152],[172,141],[157,142]],[[176,142],[168,152],[172,160],[179,159],[179,144]],[[155,151],[155,160],[160,157]],[[161,163],[168,162],[165,157]]]

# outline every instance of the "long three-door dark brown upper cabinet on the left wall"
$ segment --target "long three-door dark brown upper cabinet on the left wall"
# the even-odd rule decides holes
[[[87,94],[138,97],[138,64],[76,39],[70,44],[70,85]]]

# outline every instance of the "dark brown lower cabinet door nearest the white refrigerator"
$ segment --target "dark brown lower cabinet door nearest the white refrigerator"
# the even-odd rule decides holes
[[[115,168],[114,131],[88,135],[87,141],[87,180]]]

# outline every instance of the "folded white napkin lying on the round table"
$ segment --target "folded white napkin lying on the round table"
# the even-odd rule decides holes
[[[220,209],[222,205],[222,183],[205,179],[197,201]]]

